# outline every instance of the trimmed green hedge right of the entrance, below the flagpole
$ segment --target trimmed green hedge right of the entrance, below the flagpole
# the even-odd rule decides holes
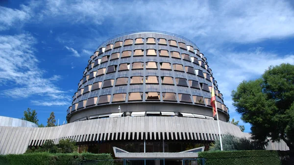
[[[205,165],[281,165],[278,151],[206,151],[199,152]]]

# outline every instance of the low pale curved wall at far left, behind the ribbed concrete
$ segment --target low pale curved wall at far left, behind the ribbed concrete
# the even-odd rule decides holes
[[[19,118],[9,118],[0,116],[0,126],[9,127],[38,127],[37,124]]]

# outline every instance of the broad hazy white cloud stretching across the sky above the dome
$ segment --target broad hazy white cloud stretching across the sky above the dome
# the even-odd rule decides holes
[[[144,27],[214,42],[248,43],[294,35],[294,10],[285,0],[49,0],[43,15],[94,27],[107,22],[116,33]]]

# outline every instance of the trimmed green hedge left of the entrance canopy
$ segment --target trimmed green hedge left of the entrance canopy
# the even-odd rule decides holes
[[[0,155],[0,165],[80,165],[87,160],[112,160],[112,157],[110,154],[51,154],[47,152]],[[108,161],[104,165],[111,163],[112,161]]]

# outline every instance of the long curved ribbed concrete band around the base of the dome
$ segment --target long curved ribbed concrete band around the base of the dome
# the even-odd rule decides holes
[[[221,134],[249,138],[240,128],[220,121]],[[161,136],[162,135],[162,136]],[[165,135],[165,136],[163,136]],[[0,126],[0,154],[22,154],[27,147],[42,145],[47,140],[56,144],[61,139],[77,142],[116,140],[182,140],[218,139],[216,120],[184,117],[121,117],[77,121],[61,126],[29,128]],[[285,145],[281,150],[289,150]]]

